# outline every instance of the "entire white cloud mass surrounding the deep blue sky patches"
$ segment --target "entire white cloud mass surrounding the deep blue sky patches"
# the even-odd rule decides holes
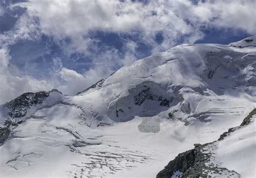
[[[256,31],[254,0],[209,0],[198,4],[185,0],[156,0],[146,4],[118,0],[33,0],[10,8],[15,6],[22,6],[27,12],[19,17],[14,29],[0,33],[0,103],[23,92],[52,88],[75,94],[116,68],[137,60],[139,42],[150,45],[151,53],[159,53],[176,45],[184,35],[186,43],[203,38],[201,26],[241,29],[251,34]],[[3,13],[0,6],[0,16]],[[104,45],[99,48],[96,45],[99,39],[90,37],[90,32],[95,31],[136,34],[139,41],[124,39],[122,52]],[[159,32],[164,37],[161,44],[155,40]],[[39,39],[42,34],[53,37],[67,54],[78,52],[89,56],[92,67],[79,74],[63,67],[61,58],[53,58],[52,79],[21,75],[10,65],[6,49],[18,40]],[[70,39],[70,44],[62,44],[65,38]]]

